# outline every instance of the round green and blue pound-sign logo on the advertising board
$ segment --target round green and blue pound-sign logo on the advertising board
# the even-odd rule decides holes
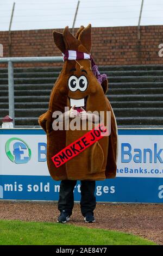
[[[8,139],[5,143],[5,153],[9,157],[10,161],[17,164],[28,163],[31,158],[31,150],[28,144],[20,138]]]

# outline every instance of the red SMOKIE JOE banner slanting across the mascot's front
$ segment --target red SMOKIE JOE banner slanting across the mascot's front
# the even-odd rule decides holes
[[[77,139],[77,141],[62,149],[59,153],[52,157],[52,161],[57,168],[62,166],[62,164],[79,155],[82,151],[90,147],[96,141],[102,139],[105,136],[104,133],[106,132],[107,130],[105,126],[100,124],[91,131],[87,132],[81,138]]]

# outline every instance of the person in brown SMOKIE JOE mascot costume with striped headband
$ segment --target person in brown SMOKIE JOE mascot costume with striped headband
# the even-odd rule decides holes
[[[58,210],[58,222],[66,223],[72,215],[74,205],[73,190],[80,180],[80,208],[85,222],[95,222],[93,211],[96,208],[95,182],[115,178],[117,159],[117,125],[110,102],[106,97],[108,80],[101,75],[91,52],[91,25],[81,26],[73,36],[65,27],[63,33],[53,32],[55,45],[61,51],[64,65],[51,92],[48,111],[39,117],[39,124],[47,134],[47,164],[54,180],[61,180]],[[65,112],[65,107],[68,111]],[[62,149],[77,141],[89,130],[53,129],[53,113],[64,113],[64,119],[78,118],[93,122],[96,115],[92,112],[111,113],[111,133],[95,144],[86,148],[71,160],[56,167],[52,157]],[[91,113],[88,113],[91,112]],[[63,121],[63,119],[61,120]],[[105,122],[104,122],[105,123]]]

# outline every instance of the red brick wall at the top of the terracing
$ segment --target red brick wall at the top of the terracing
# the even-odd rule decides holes
[[[56,30],[62,32],[62,29]],[[12,31],[11,56],[61,56],[54,45],[52,32],[53,29]],[[163,43],[162,34],[163,26],[142,26],[139,41],[137,27],[92,28],[92,56],[98,65],[163,64],[163,57],[158,56],[158,46]],[[0,32],[0,44],[4,47],[4,57],[8,57],[8,32]]]

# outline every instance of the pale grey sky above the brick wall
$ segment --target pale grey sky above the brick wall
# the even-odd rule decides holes
[[[14,0],[0,0],[0,31],[9,28]],[[78,0],[15,0],[11,30],[72,27]],[[136,26],[141,0],[80,0],[75,27]],[[163,0],[144,0],[141,25],[163,24]]]

